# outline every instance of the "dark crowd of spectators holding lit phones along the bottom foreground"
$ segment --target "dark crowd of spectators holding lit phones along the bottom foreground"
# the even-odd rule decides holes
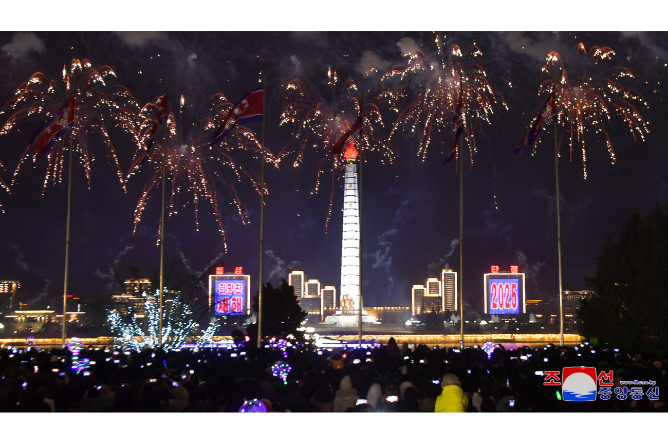
[[[273,373],[277,361],[291,367],[285,380]],[[238,412],[255,402],[267,412],[666,412],[667,365],[665,357],[589,344],[496,345],[490,353],[477,345],[399,347],[394,339],[357,348],[284,341],[168,352],[84,345],[75,354],[3,346],[0,411]],[[546,376],[570,366],[605,372],[613,390],[655,384],[644,384],[641,398],[613,391],[605,400],[566,402]]]

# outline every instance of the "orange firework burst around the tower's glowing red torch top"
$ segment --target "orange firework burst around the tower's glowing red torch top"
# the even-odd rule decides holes
[[[343,176],[345,159],[342,154],[332,154],[331,148],[341,135],[345,134],[355,124],[360,113],[359,88],[355,81],[349,79],[343,82],[343,87],[337,87],[339,78],[331,67],[327,69],[327,95],[320,94],[315,86],[309,86],[302,80],[291,80],[285,86],[285,95],[281,104],[281,121],[279,126],[293,124],[292,136],[295,139],[288,142],[279,154],[279,160],[295,155],[293,166],[300,166],[305,154],[317,157],[317,174],[315,187],[311,194],[320,190],[321,177],[326,170],[331,171],[331,193],[329,209],[325,220],[325,232],[331,218],[333,205],[334,184],[337,176]],[[387,138],[382,136],[385,129],[380,110],[373,102],[363,103],[362,133],[357,148],[368,154],[378,154],[382,164],[393,162],[393,153]],[[292,148],[297,144],[297,148]]]

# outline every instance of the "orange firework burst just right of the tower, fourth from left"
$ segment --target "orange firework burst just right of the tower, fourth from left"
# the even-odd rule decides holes
[[[436,56],[420,50],[405,54],[405,62],[391,67],[381,78],[382,82],[397,80],[398,85],[383,88],[378,100],[387,101],[398,115],[390,139],[399,130],[421,133],[417,154],[424,161],[433,138],[444,146],[452,142],[452,122],[461,92],[464,140],[473,163],[477,152],[473,120],[491,124],[493,105],[501,104],[506,110],[508,106],[492,89],[487,73],[477,61],[482,56],[480,48],[474,45],[464,53],[458,45],[446,49],[444,40],[434,33]]]

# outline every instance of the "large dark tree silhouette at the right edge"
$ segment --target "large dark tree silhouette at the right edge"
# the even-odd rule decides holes
[[[627,351],[653,351],[668,341],[668,208],[637,213],[617,241],[601,249],[595,295],[578,311],[582,335]]]

